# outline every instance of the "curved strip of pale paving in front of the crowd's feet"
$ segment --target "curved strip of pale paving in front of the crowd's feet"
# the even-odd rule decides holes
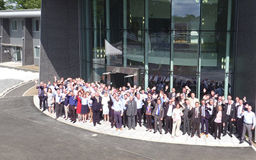
[[[39,98],[37,96],[33,97],[33,101],[35,106],[39,109]],[[44,114],[51,116],[51,118],[55,118],[55,115],[50,115],[48,111],[44,111]],[[101,122],[102,125],[96,125],[93,126],[93,123],[89,123],[87,121],[86,123],[83,122],[77,122],[73,124],[69,120],[64,120],[64,118],[58,118],[57,119],[60,122],[64,122],[69,125],[73,125],[75,127],[80,127],[82,129],[87,129],[89,131],[98,132],[98,133],[104,133],[109,134],[111,136],[119,136],[122,138],[132,138],[135,140],[145,140],[145,141],[156,141],[156,142],[163,142],[163,143],[176,143],[176,144],[183,144],[183,145],[203,145],[203,146],[212,146],[212,147],[248,147],[248,143],[242,143],[239,144],[239,140],[233,136],[232,138],[230,136],[224,136],[221,137],[221,140],[216,139],[214,140],[214,137],[209,134],[209,137],[206,138],[206,136],[201,136],[201,138],[198,138],[197,136],[194,136],[191,138],[188,136],[188,134],[182,135],[182,132],[180,131],[180,136],[172,138],[170,133],[168,134],[160,134],[159,132],[156,132],[155,134],[153,132],[146,131],[146,127],[142,125],[140,127],[137,125],[136,130],[129,130],[127,127],[123,128],[123,131],[115,131],[115,128],[111,128],[110,124],[105,124],[104,122]]]

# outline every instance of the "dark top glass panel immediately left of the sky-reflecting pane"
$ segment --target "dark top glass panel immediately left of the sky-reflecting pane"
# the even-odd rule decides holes
[[[170,0],[149,1],[149,29],[170,29]]]

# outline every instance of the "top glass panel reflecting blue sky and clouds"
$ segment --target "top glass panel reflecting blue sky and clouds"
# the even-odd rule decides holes
[[[199,0],[172,0],[172,29],[199,30],[199,17]]]

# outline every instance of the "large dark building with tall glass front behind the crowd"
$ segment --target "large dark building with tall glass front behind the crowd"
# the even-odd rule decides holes
[[[246,96],[255,111],[256,1],[42,0],[40,79],[165,81]]]

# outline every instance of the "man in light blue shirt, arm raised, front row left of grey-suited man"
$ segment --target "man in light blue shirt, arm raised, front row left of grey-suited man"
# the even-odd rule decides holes
[[[116,122],[116,131],[122,129],[122,116],[123,116],[123,102],[119,100],[119,97],[116,96],[114,99],[112,95],[110,95],[111,100],[113,101],[113,108],[114,108],[114,120]]]

